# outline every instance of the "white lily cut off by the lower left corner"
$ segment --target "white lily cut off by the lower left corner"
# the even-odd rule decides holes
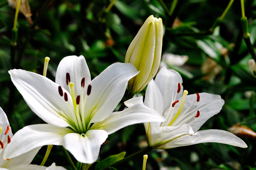
[[[0,170],[67,170],[61,166],[55,166],[55,163],[49,167],[31,165],[31,161],[34,159],[35,155],[41,147],[37,147],[20,156],[4,160],[4,150],[12,140],[12,136],[13,133],[7,116],[3,109],[0,107]]]

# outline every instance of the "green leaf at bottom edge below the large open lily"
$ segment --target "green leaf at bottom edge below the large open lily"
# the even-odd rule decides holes
[[[95,170],[100,170],[100,169],[104,169],[110,165],[112,165],[113,163],[121,160],[124,158],[126,152],[121,152],[119,154],[116,155],[111,155],[106,159],[103,159],[102,161],[100,161],[96,166],[95,166]]]

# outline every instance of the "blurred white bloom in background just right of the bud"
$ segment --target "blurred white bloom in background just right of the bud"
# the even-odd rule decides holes
[[[162,55],[159,70],[166,66],[166,64],[173,66],[182,66],[188,61],[188,56],[180,56],[172,53],[165,53]]]

